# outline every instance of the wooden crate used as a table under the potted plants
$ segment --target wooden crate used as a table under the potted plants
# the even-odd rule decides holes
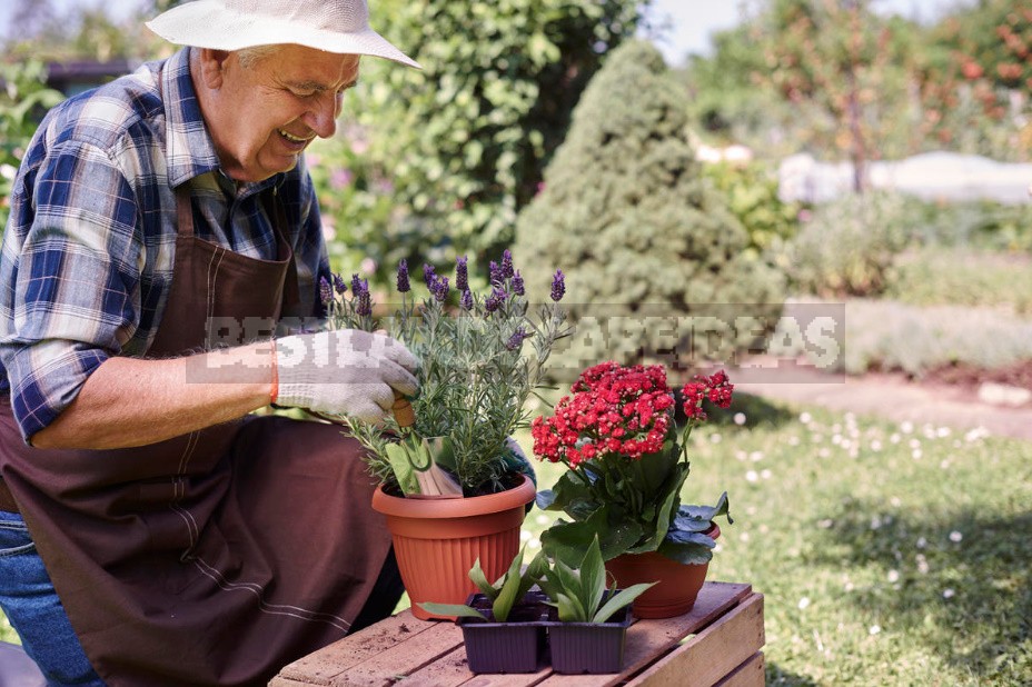
[[[764,684],[763,645],[763,595],[750,585],[706,583],[689,614],[631,626],[618,675],[557,675],[546,666],[528,675],[475,675],[454,623],[403,611],[290,664],[269,686],[752,687]]]

